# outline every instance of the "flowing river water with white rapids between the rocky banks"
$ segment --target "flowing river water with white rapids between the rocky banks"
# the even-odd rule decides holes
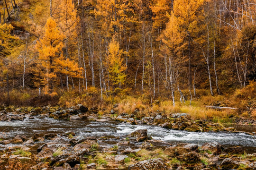
[[[256,126],[237,127],[238,130],[255,132]],[[61,134],[73,131],[82,136],[106,136],[109,140],[103,144],[113,145],[119,142],[117,137],[126,136],[129,133],[138,130],[147,129],[148,135],[154,139],[162,140],[171,144],[194,143],[203,144],[206,142],[218,142],[224,147],[240,145],[247,149],[249,153],[256,153],[256,136],[250,136],[245,133],[229,132],[187,132],[172,129],[165,129],[158,126],[148,125],[130,125],[115,121],[97,122],[88,120],[55,120],[50,118],[35,117],[35,119],[24,119],[23,121],[0,121],[0,138],[12,139],[17,135],[25,135],[27,138],[33,134],[56,133]],[[67,140],[62,138],[62,140]],[[46,143],[49,141],[44,141]],[[67,141],[63,141],[67,142]],[[0,147],[5,147],[1,146]]]

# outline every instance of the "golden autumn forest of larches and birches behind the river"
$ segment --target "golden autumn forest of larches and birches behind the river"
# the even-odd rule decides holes
[[[253,93],[255,3],[2,0],[1,103],[43,96],[41,105],[74,105],[91,94],[92,105],[133,96],[175,106],[202,96],[234,100],[247,85]]]

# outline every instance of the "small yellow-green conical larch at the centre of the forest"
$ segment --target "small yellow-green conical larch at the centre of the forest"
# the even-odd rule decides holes
[[[109,55],[108,55],[108,70],[110,76],[110,85],[113,90],[117,87],[121,87],[125,83],[125,70],[126,66],[123,62],[124,59],[121,58],[123,51],[120,50],[119,42],[116,41],[115,36],[109,45]]]

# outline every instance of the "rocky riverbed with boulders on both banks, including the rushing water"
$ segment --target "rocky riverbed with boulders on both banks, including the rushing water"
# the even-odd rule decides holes
[[[82,105],[0,111],[0,169],[256,169],[255,127],[186,113],[97,112]]]

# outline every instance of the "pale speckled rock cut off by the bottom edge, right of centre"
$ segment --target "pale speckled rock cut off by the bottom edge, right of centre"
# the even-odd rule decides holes
[[[169,168],[165,166],[162,159],[152,159],[139,161],[134,165],[130,165],[128,170],[169,170]]]

